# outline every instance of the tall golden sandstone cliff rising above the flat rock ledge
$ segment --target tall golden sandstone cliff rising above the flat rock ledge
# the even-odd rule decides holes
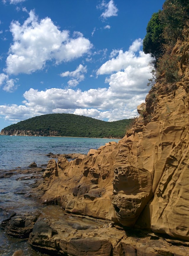
[[[119,143],[84,159],[50,160],[38,187],[41,202],[189,240],[188,30],[184,35],[173,49],[182,80],[167,85],[162,75]]]

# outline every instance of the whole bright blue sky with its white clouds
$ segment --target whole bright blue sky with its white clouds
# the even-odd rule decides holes
[[[163,2],[0,0],[0,130],[49,113],[137,115],[150,78],[142,40]]]

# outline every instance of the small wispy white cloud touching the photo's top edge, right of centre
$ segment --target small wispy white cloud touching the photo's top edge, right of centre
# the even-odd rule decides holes
[[[102,18],[106,19],[112,16],[118,16],[118,8],[115,6],[113,0],[106,3],[104,0],[100,5],[97,6],[99,9],[104,9],[104,12],[100,15]]]

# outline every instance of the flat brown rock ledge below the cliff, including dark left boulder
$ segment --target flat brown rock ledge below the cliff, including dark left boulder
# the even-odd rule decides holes
[[[11,212],[0,224],[9,236],[50,255],[188,256],[189,242],[124,228],[107,220],[63,213],[61,218]]]

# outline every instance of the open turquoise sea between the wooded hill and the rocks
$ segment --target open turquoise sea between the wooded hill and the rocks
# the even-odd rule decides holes
[[[97,149],[109,141],[118,139],[35,137],[0,135],[0,169],[26,168],[36,162],[38,166],[48,162],[45,155],[82,153]]]

